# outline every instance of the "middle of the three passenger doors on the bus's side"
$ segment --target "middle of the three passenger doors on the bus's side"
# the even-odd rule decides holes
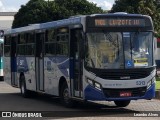
[[[36,33],[36,86],[37,91],[44,91],[44,39],[45,33]]]

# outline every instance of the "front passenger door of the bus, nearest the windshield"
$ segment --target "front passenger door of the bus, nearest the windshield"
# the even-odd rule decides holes
[[[82,58],[81,55],[81,42],[82,34],[81,29],[71,29],[70,40],[70,79],[71,90],[73,97],[82,97]]]

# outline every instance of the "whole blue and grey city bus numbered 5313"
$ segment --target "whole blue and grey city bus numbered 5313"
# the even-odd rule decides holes
[[[70,17],[5,32],[4,80],[28,97],[39,92],[71,107],[80,101],[155,97],[151,17],[112,13]]]

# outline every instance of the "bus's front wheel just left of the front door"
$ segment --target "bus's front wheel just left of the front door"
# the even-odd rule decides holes
[[[60,99],[61,99],[61,103],[65,107],[74,106],[74,101],[69,98],[69,89],[66,82],[64,82],[61,86]]]

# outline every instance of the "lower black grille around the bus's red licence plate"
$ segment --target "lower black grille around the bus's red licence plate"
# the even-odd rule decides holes
[[[130,97],[141,97],[145,95],[146,87],[141,88],[128,88],[128,89],[103,89],[107,98],[119,98],[120,92],[131,92]]]

